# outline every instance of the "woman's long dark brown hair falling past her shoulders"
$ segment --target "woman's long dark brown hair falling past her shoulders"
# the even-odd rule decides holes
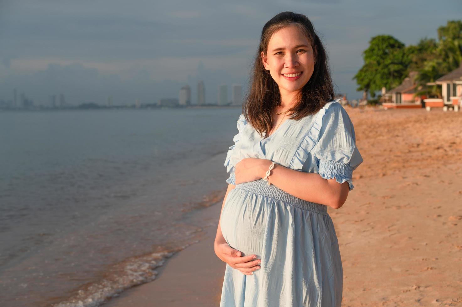
[[[298,26],[308,37],[313,51],[317,50],[316,63],[310,80],[301,89],[296,105],[289,109],[292,120],[299,120],[319,111],[327,101],[334,99],[334,88],[328,68],[327,55],[321,40],[311,24],[310,19],[303,14],[281,12],[271,18],[261,30],[260,45],[255,55],[250,87],[243,103],[243,114],[256,131],[265,138],[274,125],[275,109],[280,105],[278,84],[265,70],[261,61],[261,52],[267,54],[268,43],[273,34],[290,25]]]

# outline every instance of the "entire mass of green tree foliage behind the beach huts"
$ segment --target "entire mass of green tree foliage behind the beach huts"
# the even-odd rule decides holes
[[[409,72],[417,71],[416,95],[441,96],[441,86],[427,83],[456,69],[462,63],[462,21],[450,20],[438,28],[438,41],[423,38],[417,45],[407,47],[393,36],[371,38],[369,48],[363,52],[364,65],[353,77],[358,90],[374,92],[384,86],[387,90],[401,84]]]

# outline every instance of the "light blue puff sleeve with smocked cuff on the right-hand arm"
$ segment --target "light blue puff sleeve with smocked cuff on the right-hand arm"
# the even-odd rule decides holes
[[[322,178],[339,183],[348,181],[349,191],[353,189],[353,170],[363,158],[356,148],[353,123],[340,104],[334,103],[324,114],[319,140],[312,153]]]

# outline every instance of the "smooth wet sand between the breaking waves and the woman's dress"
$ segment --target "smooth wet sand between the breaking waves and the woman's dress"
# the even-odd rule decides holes
[[[213,241],[221,205],[220,201],[198,212],[210,222],[204,226],[199,242],[166,259],[156,269],[153,281],[126,289],[101,306],[218,306],[226,264],[215,255]]]

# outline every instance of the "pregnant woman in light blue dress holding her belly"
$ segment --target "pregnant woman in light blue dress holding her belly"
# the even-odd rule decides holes
[[[363,159],[310,20],[293,12],[269,20],[253,69],[225,161],[220,306],[340,306],[343,269],[327,207],[345,203]]]

